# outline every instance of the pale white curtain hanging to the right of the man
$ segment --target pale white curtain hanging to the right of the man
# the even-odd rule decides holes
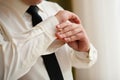
[[[120,80],[120,0],[72,0],[98,50],[90,69],[76,69],[75,80]]]

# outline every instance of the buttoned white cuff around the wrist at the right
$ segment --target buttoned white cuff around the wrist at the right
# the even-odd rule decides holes
[[[90,44],[89,53],[73,50],[71,54],[71,64],[73,67],[78,69],[91,67],[96,62],[96,60],[97,50],[92,44]]]

